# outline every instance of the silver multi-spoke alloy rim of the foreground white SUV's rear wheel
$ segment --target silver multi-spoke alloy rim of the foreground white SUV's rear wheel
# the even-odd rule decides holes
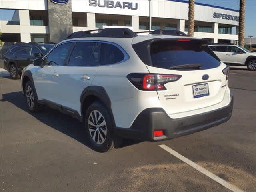
[[[88,128],[90,137],[96,144],[102,144],[106,140],[107,125],[106,121],[98,110],[93,110],[88,118]]]

